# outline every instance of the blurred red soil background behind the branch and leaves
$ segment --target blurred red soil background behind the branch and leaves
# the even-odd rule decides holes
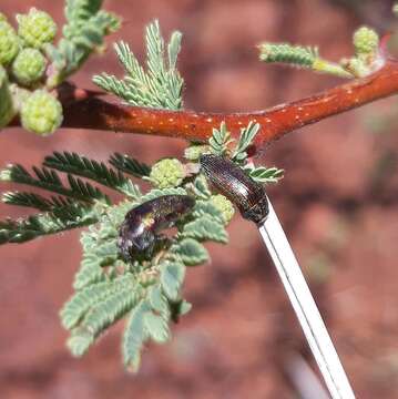
[[[353,31],[391,28],[391,1],[108,1],[124,18],[123,38],[143,55],[143,29],[159,18],[165,35],[184,33],[180,68],[185,106],[264,109],[339,81],[257,61],[262,40],[319,45],[339,59]],[[61,1],[1,0],[11,16],[30,7],[63,21]],[[101,71],[120,73],[110,51],[73,76],[93,88]],[[358,398],[398,398],[397,99],[323,121],[266,149],[261,160],[286,170],[269,188]],[[95,117],[95,115],[92,115]],[[146,162],[181,156],[177,140],[95,131],[59,131],[43,140],[22,130],[0,135],[0,163],[39,163],[52,151],[106,160],[114,151]],[[10,190],[2,185],[2,191]],[[0,205],[1,218],[25,209]],[[81,360],[64,342],[58,311],[72,293],[79,232],[1,247],[0,397],[297,398],[298,358],[313,364],[268,255],[251,224],[235,217],[227,247],[211,245],[211,264],[187,273],[193,310],[173,340],[151,345],[137,375],[121,365],[121,324]],[[315,396],[317,397],[317,396]]]

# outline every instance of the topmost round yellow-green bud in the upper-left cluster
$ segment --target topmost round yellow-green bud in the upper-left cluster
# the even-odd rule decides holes
[[[18,14],[18,34],[25,45],[41,49],[51,43],[57,34],[54,20],[44,11],[31,8],[28,14]]]

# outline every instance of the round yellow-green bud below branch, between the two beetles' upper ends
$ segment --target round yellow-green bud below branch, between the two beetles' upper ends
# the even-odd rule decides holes
[[[150,181],[157,188],[169,188],[180,185],[185,176],[183,164],[175,158],[159,161],[152,166]]]

